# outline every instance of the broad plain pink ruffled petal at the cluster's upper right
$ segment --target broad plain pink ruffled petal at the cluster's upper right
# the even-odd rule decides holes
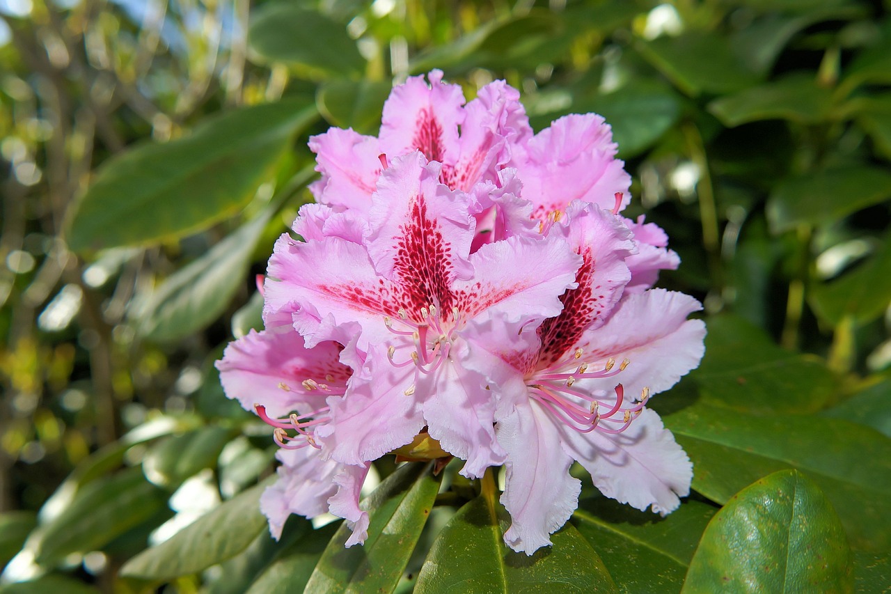
[[[523,180],[523,197],[535,203],[536,216],[542,217],[564,210],[573,200],[612,210],[617,192],[624,196],[624,208],[631,201],[631,176],[616,152],[612,130],[601,116],[572,114],[536,134],[513,162]]]

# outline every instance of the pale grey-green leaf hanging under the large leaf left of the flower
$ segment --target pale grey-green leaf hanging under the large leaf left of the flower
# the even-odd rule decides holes
[[[209,252],[164,279],[135,317],[139,334],[155,342],[176,342],[219,318],[244,285],[250,256],[272,215],[267,208]]]

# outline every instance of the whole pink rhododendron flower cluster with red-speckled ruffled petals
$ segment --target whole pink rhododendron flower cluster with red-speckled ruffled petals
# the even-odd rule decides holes
[[[689,458],[646,408],[699,364],[699,302],[651,288],[666,234],[620,211],[630,177],[609,126],[570,115],[534,134],[503,81],[409,78],[380,136],[310,140],[321,178],[275,244],[265,330],[218,362],[226,394],[274,427],[261,507],[331,512],[363,542],[373,460],[429,438],[478,478],[504,466],[504,540],[532,554],[576,508],[577,460],[604,495],[665,515]]]

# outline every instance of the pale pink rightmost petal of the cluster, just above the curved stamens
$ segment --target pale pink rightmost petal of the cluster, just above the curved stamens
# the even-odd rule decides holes
[[[690,295],[665,289],[626,295],[607,323],[585,333],[580,343],[585,361],[602,363],[611,357],[630,364],[613,377],[589,380],[590,385],[611,391],[622,383],[630,398],[639,397],[644,387],[652,394],[672,387],[699,365],[705,351],[705,324],[687,319],[699,309]]]

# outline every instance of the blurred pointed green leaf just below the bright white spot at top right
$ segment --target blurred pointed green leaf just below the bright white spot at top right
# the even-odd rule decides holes
[[[730,40],[715,33],[659,37],[635,47],[686,95],[733,93],[759,77],[733,54]]]

